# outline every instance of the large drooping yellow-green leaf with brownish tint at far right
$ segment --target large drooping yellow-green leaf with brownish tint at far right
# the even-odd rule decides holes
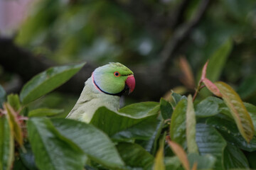
[[[254,127],[252,118],[247,112],[245,105],[242,103],[238,94],[228,84],[219,81],[216,82],[215,85],[218,86],[220,93],[223,95],[223,100],[230,109],[242,137],[244,137],[247,142],[250,142],[254,135]]]

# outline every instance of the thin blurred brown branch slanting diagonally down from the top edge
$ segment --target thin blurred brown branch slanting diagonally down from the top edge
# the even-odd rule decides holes
[[[203,13],[205,13],[206,8],[208,7],[209,1],[210,0],[201,1],[201,4],[198,7],[198,11],[195,14],[195,16],[191,19],[191,21],[188,21],[187,23],[184,23],[182,26],[176,28],[176,30],[174,31],[174,35],[171,36],[169,40],[167,40],[166,45],[164,46],[160,54],[160,65],[162,66],[163,69],[162,72],[166,72],[166,70],[169,68],[171,57],[174,56],[175,50],[188,37],[188,35],[191,33],[191,30],[193,30],[193,28],[197,26],[199,21],[201,21]]]

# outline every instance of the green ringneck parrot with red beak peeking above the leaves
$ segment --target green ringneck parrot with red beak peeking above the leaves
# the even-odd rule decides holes
[[[97,108],[105,106],[112,111],[119,110],[120,96],[134,91],[133,72],[119,62],[110,62],[98,67],[85,81],[85,87],[67,118],[90,123]]]

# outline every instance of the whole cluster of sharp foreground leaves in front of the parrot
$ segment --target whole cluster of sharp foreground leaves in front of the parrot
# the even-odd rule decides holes
[[[256,168],[256,106],[224,82],[206,78],[195,95],[98,108],[89,124],[54,118],[61,111],[29,105],[68,81],[83,64],[53,67],[11,94],[0,113],[0,169]],[[215,96],[194,101],[206,86]]]

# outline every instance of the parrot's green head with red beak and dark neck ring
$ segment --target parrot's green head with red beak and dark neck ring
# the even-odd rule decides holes
[[[92,72],[95,87],[105,94],[121,96],[129,90],[134,91],[135,79],[133,72],[119,62],[110,62]]]

